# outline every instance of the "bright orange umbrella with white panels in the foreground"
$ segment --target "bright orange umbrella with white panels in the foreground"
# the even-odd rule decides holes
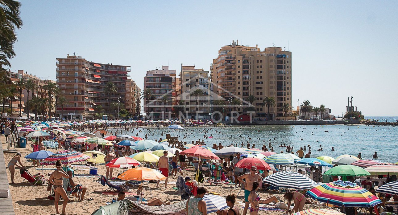
[[[135,180],[135,181],[150,181],[150,180],[165,180],[166,177],[157,170],[138,167],[129,169],[123,172],[121,175],[117,176],[121,180]]]

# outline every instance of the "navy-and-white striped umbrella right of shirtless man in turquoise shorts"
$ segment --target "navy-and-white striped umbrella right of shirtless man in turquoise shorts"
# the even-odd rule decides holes
[[[292,188],[297,190],[311,189],[316,184],[306,175],[293,171],[281,171],[271,174],[263,179],[263,182],[272,186]]]

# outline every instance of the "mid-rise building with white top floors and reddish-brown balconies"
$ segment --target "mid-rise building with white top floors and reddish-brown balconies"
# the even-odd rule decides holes
[[[176,96],[176,70],[169,70],[168,66],[162,69],[146,71],[144,77],[144,91],[152,90],[150,98],[144,98],[144,112],[151,120],[163,120],[174,117],[172,111],[173,98]],[[168,97],[163,102],[162,97]]]

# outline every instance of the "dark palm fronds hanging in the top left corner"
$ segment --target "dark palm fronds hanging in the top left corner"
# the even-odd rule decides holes
[[[0,52],[7,58],[15,56],[14,43],[17,41],[16,29],[21,29],[21,3],[16,0],[0,1]]]

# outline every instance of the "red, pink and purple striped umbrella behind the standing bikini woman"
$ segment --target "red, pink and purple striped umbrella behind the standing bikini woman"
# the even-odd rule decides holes
[[[50,155],[43,162],[41,165],[55,165],[57,160],[61,160],[62,164],[68,164],[73,162],[81,162],[89,159],[90,156],[87,156],[78,151],[66,150],[66,151],[59,151],[53,155]]]

